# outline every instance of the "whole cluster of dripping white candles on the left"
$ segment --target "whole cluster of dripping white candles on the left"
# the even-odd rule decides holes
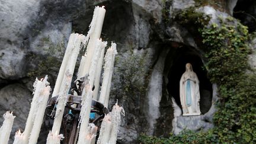
[[[69,37],[68,46],[63,57],[62,65],[56,79],[55,88],[52,97],[57,97],[56,113],[52,130],[47,137],[47,144],[60,143],[64,137],[60,132],[63,113],[71,88],[72,76],[75,70],[75,63],[82,47],[87,47],[85,55],[82,56],[78,69],[78,78],[88,75],[89,83],[83,88],[81,95],[81,113],[79,116],[79,136],[78,144],[95,143],[95,133],[98,127],[93,123],[89,123],[89,115],[91,111],[92,99],[98,100],[100,103],[108,107],[108,99],[110,95],[111,78],[113,75],[114,57],[117,55],[116,43],[111,43],[111,47],[107,49],[104,57],[107,41],[100,39],[101,30],[105,16],[104,7],[95,7],[92,22],[89,25],[87,36],[72,33]],[[103,82],[100,94],[100,76],[101,68],[104,61]],[[47,82],[47,76],[43,79],[36,79],[34,82],[34,96],[31,103],[30,112],[28,114],[27,123],[24,132],[20,130],[16,132],[14,144],[34,144],[37,143],[41,124],[43,123],[44,112],[47,107],[47,101],[50,95],[50,86]],[[94,85],[94,91],[92,86]],[[100,97],[98,97],[100,95]],[[120,126],[121,114],[124,110],[117,103],[113,106],[113,110],[105,115],[101,123],[100,135],[97,140],[98,144],[116,143],[117,133]],[[4,114],[4,123],[0,129],[0,143],[7,144],[14,122],[15,116],[12,113]]]

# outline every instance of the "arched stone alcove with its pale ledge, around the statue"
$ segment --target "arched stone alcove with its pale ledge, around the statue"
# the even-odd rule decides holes
[[[203,69],[203,60],[201,58],[201,52],[198,49],[191,46],[185,46],[178,43],[171,43],[165,46],[163,51],[160,52],[159,58],[162,53],[167,53],[164,62],[164,72],[162,78],[162,97],[159,103],[159,117],[156,120],[155,132],[156,136],[169,136],[169,133],[174,130],[174,133],[178,133],[184,129],[177,123],[177,119],[187,123],[187,121],[193,121],[196,124],[194,127],[188,127],[191,130],[208,129],[212,125],[209,120],[204,116],[212,108],[213,99],[213,84],[210,83],[207,78],[207,72]],[[168,50],[167,50],[168,49]],[[191,63],[193,71],[196,72],[200,81],[200,110],[202,115],[196,116],[195,120],[187,120],[190,117],[181,116],[181,104],[180,104],[180,78],[185,72],[185,64]],[[174,98],[175,102],[172,101]],[[174,107],[177,103],[177,107]],[[175,116],[176,113],[176,116]],[[177,116],[177,113],[178,116]],[[174,122],[176,119],[176,122]],[[181,122],[181,123],[183,123]],[[178,130],[177,130],[178,129]]]

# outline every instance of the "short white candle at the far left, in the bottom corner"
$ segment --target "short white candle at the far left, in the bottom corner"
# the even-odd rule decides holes
[[[12,113],[9,113],[9,111],[7,111],[4,114],[4,123],[2,124],[1,128],[0,128],[0,143],[1,144],[7,144],[9,141],[9,136],[11,134],[11,130],[12,130],[12,124],[14,121],[15,116],[12,115]]]

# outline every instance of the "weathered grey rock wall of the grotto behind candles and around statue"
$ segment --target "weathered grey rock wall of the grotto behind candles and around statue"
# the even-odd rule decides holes
[[[218,23],[217,17],[230,16],[236,5],[236,1],[216,3],[223,6],[221,11],[193,0],[0,0],[0,107],[1,114],[13,110],[17,116],[12,139],[18,127],[24,129],[34,79],[47,74],[54,87],[69,35],[87,34],[95,5],[104,5],[107,11],[101,37],[116,42],[119,52],[109,104],[118,99],[126,111],[118,142],[136,143],[140,133],[168,136],[187,126],[191,130],[212,127],[207,121],[215,112],[211,103],[215,89],[201,69],[202,52],[197,36],[190,32],[193,27],[181,25],[175,15],[197,7],[196,11],[212,17],[211,23]],[[199,117],[179,116],[177,81],[186,62],[199,73],[204,109]],[[177,101],[174,107],[172,98]],[[39,143],[45,143],[45,135]]]

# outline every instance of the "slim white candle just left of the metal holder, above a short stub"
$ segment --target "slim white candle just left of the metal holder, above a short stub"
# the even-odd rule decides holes
[[[62,82],[62,86],[60,88],[59,97],[57,98],[55,120],[53,122],[53,127],[52,127],[52,132],[56,132],[56,135],[59,135],[60,126],[62,123],[62,117],[63,117],[65,105],[66,105],[66,98],[68,97],[71,81],[72,81],[72,74],[69,72],[69,70],[67,70]]]

